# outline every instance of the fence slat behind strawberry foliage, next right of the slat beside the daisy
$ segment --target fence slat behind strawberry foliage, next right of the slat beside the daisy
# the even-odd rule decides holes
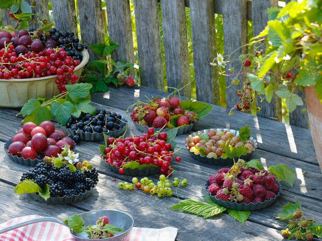
[[[253,15],[253,36],[257,36],[261,31],[264,30],[268,21],[267,9],[270,7],[277,7],[277,0],[253,0],[252,1],[252,15]],[[265,47],[263,47],[265,53]],[[262,95],[261,98],[265,98]],[[267,101],[260,102],[260,97],[257,97],[257,104],[261,108],[256,114],[264,118],[278,118],[282,114],[282,102],[281,99],[274,95],[274,98],[270,103]],[[281,118],[279,118],[281,121]]]

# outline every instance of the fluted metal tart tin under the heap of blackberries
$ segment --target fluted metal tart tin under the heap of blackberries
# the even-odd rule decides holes
[[[80,202],[90,195],[92,195],[95,187],[90,188],[89,191],[85,191],[85,193],[80,193],[78,195],[72,195],[71,197],[63,196],[63,197],[49,197],[47,200],[43,199],[39,194],[36,193],[27,193],[30,198],[33,198],[35,201],[43,202],[46,204],[71,204],[75,202]]]

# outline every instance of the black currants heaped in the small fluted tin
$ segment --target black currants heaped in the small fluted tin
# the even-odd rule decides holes
[[[66,128],[72,131],[84,133],[108,133],[122,129],[126,123],[121,120],[122,116],[105,109],[96,109],[96,114],[81,114],[79,118],[72,116],[68,119]]]

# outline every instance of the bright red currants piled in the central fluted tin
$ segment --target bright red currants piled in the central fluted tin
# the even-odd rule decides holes
[[[169,175],[173,170],[170,162],[174,158],[175,152],[180,149],[172,151],[172,146],[166,142],[166,139],[165,132],[154,133],[154,129],[150,127],[147,133],[140,136],[132,134],[132,136],[125,138],[109,137],[104,153],[101,154],[106,163],[119,168],[120,174],[125,172],[124,165],[137,161],[141,165],[153,164],[159,167],[160,173]],[[175,160],[179,162],[181,158],[177,156]]]

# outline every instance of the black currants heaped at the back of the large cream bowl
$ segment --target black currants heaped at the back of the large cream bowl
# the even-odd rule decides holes
[[[29,31],[34,31],[34,29],[29,29]],[[38,32],[38,31],[37,31]],[[36,33],[37,35],[40,33]],[[68,56],[71,56],[73,59],[82,60],[81,51],[87,46],[79,43],[79,39],[75,37],[74,32],[61,32],[52,28],[48,32],[45,32],[42,36],[39,36],[39,39],[43,42],[43,45],[51,48],[62,47],[67,52]]]

